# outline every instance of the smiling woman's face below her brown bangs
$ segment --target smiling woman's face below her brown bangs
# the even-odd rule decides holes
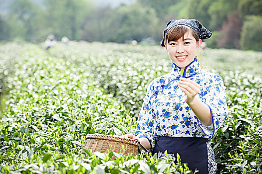
[[[166,44],[166,43],[165,43]],[[166,44],[169,58],[181,69],[184,69],[196,57],[201,45],[201,39],[197,42],[191,32],[187,32],[184,38],[170,41]]]

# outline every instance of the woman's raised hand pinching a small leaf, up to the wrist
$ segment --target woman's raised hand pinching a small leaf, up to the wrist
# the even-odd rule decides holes
[[[196,99],[200,85],[186,78],[180,78],[179,87],[185,92],[185,101],[190,105]]]

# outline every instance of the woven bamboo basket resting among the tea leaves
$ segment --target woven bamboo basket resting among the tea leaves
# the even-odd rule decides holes
[[[122,145],[124,146],[124,153]],[[111,151],[125,156],[129,154],[136,156],[139,153],[139,141],[103,134],[88,134],[83,149],[92,150],[92,152],[106,152],[110,150],[110,147]],[[113,158],[116,158],[116,156],[114,155]]]

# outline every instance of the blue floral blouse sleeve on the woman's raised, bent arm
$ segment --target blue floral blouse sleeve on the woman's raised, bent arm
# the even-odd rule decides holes
[[[198,120],[198,125],[205,135],[212,137],[228,115],[226,91],[223,79],[219,75],[212,73],[202,92],[202,101],[210,108],[212,124],[206,126]]]

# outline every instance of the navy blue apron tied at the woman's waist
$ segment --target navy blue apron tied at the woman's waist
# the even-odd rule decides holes
[[[197,174],[208,174],[208,152],[206,138],[197,137],[166,137],[157,138],[153,149],[153,155],[158,154],[161,158],[167,150],[169,157],[180,156],[181,163],[187,163],[193,172],[197,169]]]

